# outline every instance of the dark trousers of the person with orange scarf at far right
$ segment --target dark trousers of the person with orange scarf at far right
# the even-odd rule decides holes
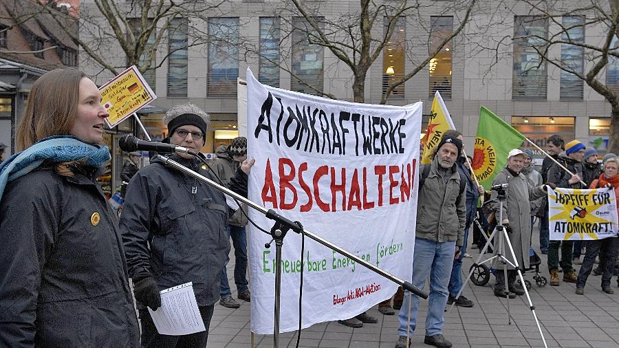
[[[583,259],[583,265],[580,266],[580,272],[578,272],[576,287],[585,287],[587,278],[593,269],[596,256],[600,250],[604,250],[606,252],[606,259],[604,263],[602,264],[602,261],[600,260],[600,267],[604,270],[604,273],[602,273],[602,287],[610,286],[611,278],[615,272],[617,248],[619,248],[618,237],[598,239],[596,241],[585,241],[585,259]]]

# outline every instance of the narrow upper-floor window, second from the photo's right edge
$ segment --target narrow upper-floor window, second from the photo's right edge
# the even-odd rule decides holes
[[[563,17],[563,41],[585,43],[585,19],[583,17]],[[582,46],[561,44],[561,63],[580,74],[583,73],[584,49]],[[561,99],[583,99],[583,80],[578,76],[561,70]]]

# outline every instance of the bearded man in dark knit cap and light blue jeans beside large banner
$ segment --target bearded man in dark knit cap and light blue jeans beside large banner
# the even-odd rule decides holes
[[[453,259],[459,257],[466,226],[466,197],[459,197],[460,175],[456,164],[461,151],[461,140],[444,136],[437,146],[432,163],[424,164],[419,171],[412,283],[422,289],[426,278],[430,276],[424,343],[435,347],[452,346],[442,335],[442,328]],[[429,166],[429,170],[426,166]],[[412,301],[410,321],[409,301]],[[417,295],[406,292],[398,315],[400,338],[396,348],[406,347],[409,339],[407,331],[412,334],[417,326],[418,309]]]

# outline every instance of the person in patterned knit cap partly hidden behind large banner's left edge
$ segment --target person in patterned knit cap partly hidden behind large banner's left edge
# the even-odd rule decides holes
[[[247,160],[247,138],[237,137],[232,139],[230,145],[221,145],[215,149],[217,159],[213,160],[211,168],[219,180],[228,184],[230,179],[237,172],[240,164]],[[243,214],[244,212],[244,214]],[[245,226],[248,224],[246,217],[247,207],[243,204],[243,210],[230,209],[230,221],[226,232],[232,238],[232,245],[235,247],[235,284],[237,285],[237,297],[243,301],[251,301],[251,294],[247,281],[247,235]],[[230,284],[228,283],[228,272],[226,265],[221,271],[221,289],[219,290],[221,300],[219,304],[228,308],[239,308],[241,305],[232,298]]]

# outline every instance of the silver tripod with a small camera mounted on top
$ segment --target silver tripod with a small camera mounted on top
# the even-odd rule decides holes
[[[473,272],[475,272],[475,267],[477,267],[478,265],[483,265],[484,263],[489,263],[490,261],[493,261],[495,259],[499,259],[499,261],[501,261],[501,263],[503,263],[503,276],[504,278],[504,283],[505,283],[505,289],[503,290],[505,292],[506,295],[506,301],[507,301],[507,309],[508,309],[508,324],[511,325],[512,323],[512,316],[510,314],[510,296],[509,296],[509,284],[508,284],[508,265],[510,265],[511,267],[515,268],[516,271],[518,272],[518,276],[520,279],[520,283],[522,284],[523,290],[525,292],[525,295],[527,296],[527,301],[529,303],[529,308],[531,309],[531,312],[533,314],[533,318],[535,319],[535,323],[537,325],[537,329],[539,330],[539,334],[542,338],[542,341],[544,342],[544,347],[548,347],[546,344],[546,340],[544,338],[544,334],[542,332],[541,326],[539,325],[539,320],[537,319],[537,315],[535,314],[535,306],[533,305],[532,301],[531,301],[531,297],[529,296],[529,291],[525,285],[525,281],[524,278],[522,276],[522,272],[521,272],[521,268],[518,264],[518,259],[516,258],[516,254],[514,253],[514,248],[512,248],[512,242],[510,241],[510,236],[508,233],[508,230],[506,228],[506,226],[503,226],[503,202],[505,202],[506,198],[507,198],[507,194],[506,194],[506,188],[508,188],[508,184],[500,184],[500,185],[495,185],[492,186],[492,190],[493,191],[497,191],[498,194],[498,198],[499,198],[499,219],[497,220],[497,222],[499,223],[494,230],[492,230],[492,234],[490,234],[490,237],[487,238],[486,240],[486,245],[484,245],[484,248],[479,252],[479,257],[477,258],[477,261],[475,261],[475,263],[473,263],[473,267],[471,268],[470,272],[468,273],[468,276],[466,277],[466,281],[464,281],[464,284],[467,284],[470,277],[473,276]],[[479,224],[479,222],[477,222]],[[486,237],[484,235],[484,237]],[[496,237],[496,239],[495,239]],[[486,250],[488,250],[488,247],[490,247],[490,243],[492,243],[492,239],[495,239],[497,241],[497,243],[495,243],[494,246],[494,251],[495,251],[495,255],[493,257],[490,257],[489,259],[486,259],[484,261],[481,261],[481,258],[484,257],[484,254],[486,253]],[[513,262],[510,261],[510,259],[508,259],[506,257],[506,248],[505,246],[509,247],[509,252],[510,255],[512,257],[512,260],[514,260]],[[481,262],[480,262],[481,261]],[[497,272],[501,272],[501,270],[497,270]],[[460,289],[460,291],[458,292],[457,296],[455,297],[456,299],[460,297],[460,295],[462,294],[462,291],[464,290],[464,286]],[[455,301],[451,304],[451,307],[449,310],[451,310],[453,308],[453,305],[455,304]]]

